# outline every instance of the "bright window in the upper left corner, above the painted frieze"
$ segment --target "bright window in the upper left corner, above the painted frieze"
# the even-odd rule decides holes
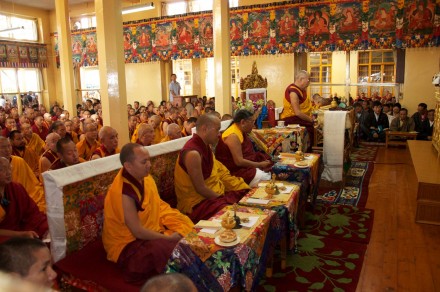
[[[0,14],[0,38],[38,41],[37,20]]]

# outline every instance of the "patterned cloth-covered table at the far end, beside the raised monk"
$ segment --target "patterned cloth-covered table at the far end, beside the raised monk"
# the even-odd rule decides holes
[[[299,143],[301,144],[299,150],[304,153],[310,146],[309,134],[305,127],[253,129],[249,133],[249,138],[258,149],[272,158],[277,157],[281,152],[294,152]]]

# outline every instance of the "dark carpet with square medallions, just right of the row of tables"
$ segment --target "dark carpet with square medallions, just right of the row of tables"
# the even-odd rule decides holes
[[[373,169],[373,162],[352,161],[345,177],[344,187],[339,190],[318,190],[316,202],[365,207],[368,199],[368,182]]]

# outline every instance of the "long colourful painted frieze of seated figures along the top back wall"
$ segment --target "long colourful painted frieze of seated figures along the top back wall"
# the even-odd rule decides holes
[[[281,2],[232,9],[231,54],[440,46],[440,0]],[[55,34],[56,36],[56,34]],[[213,56],[212,13],[123,24],[126,63]],[[72,31],[74,64],[96,65],[96,30]]]

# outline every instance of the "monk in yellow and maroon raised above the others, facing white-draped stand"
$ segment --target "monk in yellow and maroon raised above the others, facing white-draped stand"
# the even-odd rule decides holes
[[[310,75],[304,70],[299,71],[295,76],[295,82],[287,86],[284,93],[284,109],[280,119],[285,121],[286,126],[290,124],[300,124],[306,127],[310,136],[310,141],[314,139],[314,127],[312,113],[312,102],[307,97],[307,87],[310,84]],[[311,152],[311,146],[307,152]]]

